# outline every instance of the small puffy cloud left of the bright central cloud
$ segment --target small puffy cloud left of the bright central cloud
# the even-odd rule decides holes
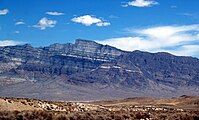
[[[48,19],[46,17],[39,20],[39,22],[34,25],[33,27],[39,28],[41,30],[45,30],[47,27],[55,27],[57,21]]]

